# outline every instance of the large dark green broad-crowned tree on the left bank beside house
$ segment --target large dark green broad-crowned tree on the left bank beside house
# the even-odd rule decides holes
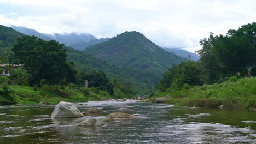
[[[12,49],[13,59],[19,64],[24,64],[27,73],[31,75],[31,86],[39,84],[42,79],[50,84],[57,84],[68,74],[73,75],[70,73],[70,64],[66,62],[64,44],[55,40],[44,41],[34,35],[26,35],[17,40],[18,43]]]

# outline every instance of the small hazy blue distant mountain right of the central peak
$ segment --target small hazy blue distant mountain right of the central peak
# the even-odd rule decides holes
[[[186,50],[182,49],[171,49],[171,48],[163,48],[164,50],[168,52],[173,52],[178,56],[188,58],[188,55],[190,55],[190,60],[192,61],[198,61],[200,59],[199,55],[196,55],[195,53],[188,52]]]

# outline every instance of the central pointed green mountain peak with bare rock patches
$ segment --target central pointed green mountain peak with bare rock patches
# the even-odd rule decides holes
[[[112,64],[150,71],[159,77],[173,64],[188,60],[165,51],[135,31],[86,47],[85,52]]]

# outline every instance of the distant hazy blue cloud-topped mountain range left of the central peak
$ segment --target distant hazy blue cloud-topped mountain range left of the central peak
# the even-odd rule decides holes
[[[35,35],[38,38],[41,38],[43,40],[54,39],[58,41],[60,44],[65,44],[66,46],[73,47],[77,50],[84,50],[85,47],[87,46],[102,43],[103,41],[107,41],[109,39],[109,38],[97,39],[93,35],[88,33],[45,34],[45,33],[39,33],[34,29],[30,29],[26,27],[18,27],[18,26],[11,25],[11,28],[26,35]]]

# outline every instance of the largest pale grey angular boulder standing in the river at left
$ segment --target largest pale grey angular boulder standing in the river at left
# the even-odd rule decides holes
[[[73,103],[60,101],[59,104],[55,105],[51,118],[75,118],[84,117],[84,114],[80,112]]]

